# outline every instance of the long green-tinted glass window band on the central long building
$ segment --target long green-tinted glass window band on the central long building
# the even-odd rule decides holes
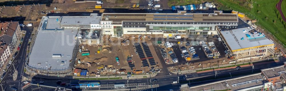
[[[153,30],[211,30],[211,27],[153,26]]]

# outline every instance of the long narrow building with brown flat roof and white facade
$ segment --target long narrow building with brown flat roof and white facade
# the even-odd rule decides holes
[[[237,14],[214,13],[103,13],[104,34],[121,37],[123,34],[217,35],[215,26],[236,27]]]

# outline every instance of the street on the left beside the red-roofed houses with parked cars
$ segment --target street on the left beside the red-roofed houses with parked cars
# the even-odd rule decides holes
[[[33,31],[33,27],[23,27],[22,30],[26,30],[26,34],[25,36],[23,36],[23,43],[14,61],[11,63],[8,70],[6,71],[6,75],[4,76],[3,79],[1,79],[1,88],[0,88],[1,91],[12,91],[11,90],[12,87],[16,87],[19,91],[21,91],[20,88],[23,85],[22,76],[24,75],[23,66],[24,66],[26,55],[27,55],[26,54],[27,46],[28,46],[29,39],[31,37],[31,32]],[[13,81],[14,67],[12,64],[14,64],[15,70],[18,71],[16,81]]]

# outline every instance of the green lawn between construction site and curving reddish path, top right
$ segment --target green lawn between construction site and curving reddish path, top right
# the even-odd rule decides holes
[[[231,9],[235,11],[239,11],[246,14],[247,17],[251,19],[258,20],[257,22],[258,25],[262,26],[263,28],[271,32],[284,45],[286,44],[286,31],[285,31],[286,29],[283,26],[281,20],[278,19],[276,15],[276,13],[279,14],[278,10],[275,8],[279,0],[253,0],[253,8],[251,10],[246,9],[241,5],[237,5],[230,0],[217,0],[217,1],[223,3],[223,5],[229,6]]]

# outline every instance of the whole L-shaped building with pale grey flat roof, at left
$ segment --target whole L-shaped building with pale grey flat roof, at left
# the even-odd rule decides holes
[[[97,14],[43,16],[29,55],[28,70],[41,70],[43,74],[72,70],[71,63],[76,58],[78,39],[82,38],[79,31],[88,28],[93,33],[93,29],[100,29],[100,18]]]

